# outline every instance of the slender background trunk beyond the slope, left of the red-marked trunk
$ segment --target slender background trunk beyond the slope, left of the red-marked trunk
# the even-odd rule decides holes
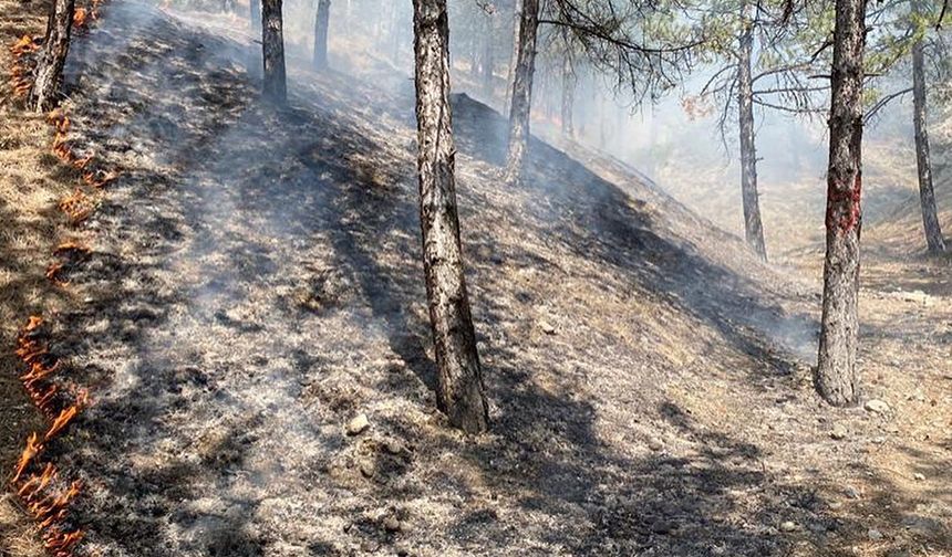
[[[764,261],[764,224],[757,193],[757,147],[754,137],[754,80],[751,75],[751,53],[754,46],[753,25],[745,22],[737,50],[737,106],[741,128],[741,196],[744,203],[744,233],[747,245]]]

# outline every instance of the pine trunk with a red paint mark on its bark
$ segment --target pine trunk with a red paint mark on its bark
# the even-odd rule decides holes
[[[831,404],[859,400],[859,239],[866,0],[836,0],[827,169],[824,311],[816,383]]]

